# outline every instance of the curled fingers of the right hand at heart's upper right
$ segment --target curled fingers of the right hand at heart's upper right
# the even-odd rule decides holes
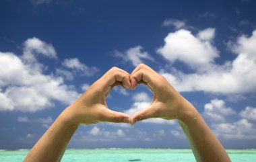
[[[149,71],[148,69],[140,69],[139,71],[136,71],[133,73],[133,75],[130,76],[131,79],[131,89],[134,89],[138,83],[146,83],[150,89],[154,89],[152,87],[152,83],[154,82],[154,73]]]

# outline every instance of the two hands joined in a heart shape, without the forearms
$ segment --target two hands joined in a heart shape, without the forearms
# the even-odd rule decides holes
[[[139,84],[147,85],[154,94],[148,108],[133,116],[108,109],[106,97],[113,87],[121,85],[125,89],[135,89]],[[126,122],[133,125],[148,118],[178,118],[182,98],[162,75],[141,64],[131,74],[113,67],[92,84],[74,104],[79,123],[88,125],[97,122]]]

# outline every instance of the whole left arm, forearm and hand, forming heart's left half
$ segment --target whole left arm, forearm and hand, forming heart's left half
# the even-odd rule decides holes
[[[109,110],[106,106],[106,96],[115,85],[131,87],[129,73],[114,67],[98,79],[79,99],[60,114],[24,161],[61,161],[69,140],[80,124],[129,123],[128,115]]]

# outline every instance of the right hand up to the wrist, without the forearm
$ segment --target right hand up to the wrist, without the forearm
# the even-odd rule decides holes
[[[187,102],[162,75],[147,65],[139,65],[130,76],[131,89],[138,84],[148,85],[154,93],[150,106],[131,117],[131,124],[148,118],[179,119]]]

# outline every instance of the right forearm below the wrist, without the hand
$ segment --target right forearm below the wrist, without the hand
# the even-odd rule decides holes
[[[214,136],[199,112],[187,101],[184,102],[185,112],[179,118],[191,149],[197,161],[230,161],[224,147]]]

